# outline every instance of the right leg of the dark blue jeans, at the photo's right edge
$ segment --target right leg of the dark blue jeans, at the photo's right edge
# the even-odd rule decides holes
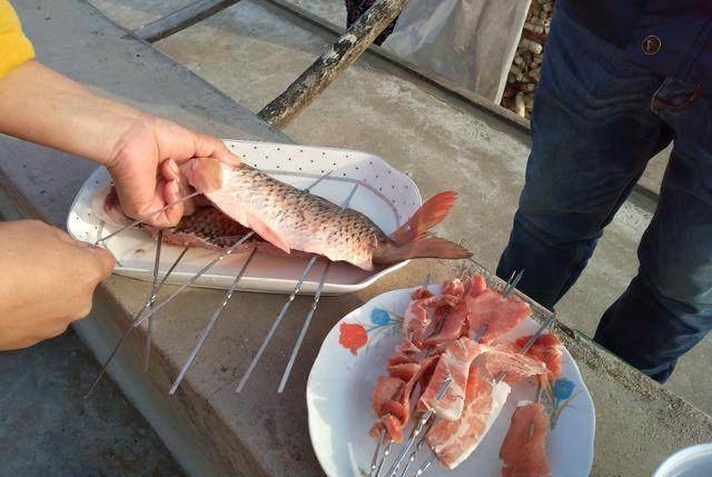
[[[595,335],[661,382],[712,329],[712,98],[694,90],[668,80],[654,96],[674,148],[639,248],[639,275]]]

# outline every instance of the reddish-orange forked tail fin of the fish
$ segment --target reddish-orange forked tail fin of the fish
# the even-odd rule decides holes
[[[426,200],[407,222],[390,235],[390,244],[383,244],[374,251],[374,262],[396,264],[411,258],[472,257],[461,245],[428,232],[445,219],[456,197],[456,192],[441,192]]]

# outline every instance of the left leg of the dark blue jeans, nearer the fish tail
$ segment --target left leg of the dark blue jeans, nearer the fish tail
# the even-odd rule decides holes
[[[568,290],[647,160],[670,141],[650,109],[662,78],[626,62],[557,2],[532,115],[532,152],[497,275],[547,308]]]

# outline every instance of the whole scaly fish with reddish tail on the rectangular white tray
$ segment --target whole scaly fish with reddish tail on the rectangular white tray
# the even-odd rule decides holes
[[[319,255],[364,270],[413,258],[459,259],[472,255],[461,245],[431,233],[451,210],[455,192],[441,192],[428,199],[387,236],[364,213],[340,208],[245,163],[229,166],[214,159],[192,159],[181,166],[181,171],[196,189],[181,200],[201,195],[197,200],[205,203],[207,199],[212,209],[201,208],[184,217],[178,227],[167,230],[167,244],[219,251],[253,230],[255,235],[244,249],[257,244],[273,255]],[[112,188],[106,192],[95,198],[92,208],[108,223],[121,227],[113,235],[140,223],[126,217]],[[156,229],[148,229],[157,233]]]

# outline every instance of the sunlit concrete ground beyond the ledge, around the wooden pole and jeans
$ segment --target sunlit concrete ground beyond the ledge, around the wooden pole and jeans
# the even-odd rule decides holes
[[[338,0],[294,1],[339,22]],[[107,14],[136,27],[184,1],[95,0]],[[238,102],[258,111],[322,52],[333,36],[305,24],[268,1],[243,0],[156,47],[186,64]],[[528,138],[492,121],[482,110],[443,97],[422,81],[366,54],[289,125],[301,143],[367,150],[416,179],[425,195],[454,188],[463,206],[446,221],[488,268],[506,244],[523,185]],[[656,190],[665,152],[651,161],[643,181]],[[435,167],[437,165],[437,167]],[[592,336],[600,316],[637,269],[635,249],[654,203],[634,196],[605,231],[578,282],[557,309],[562,319]],[[705,339],[681,359],[669,386],[712,413],[712,378],[699,362],[712,359]]]

